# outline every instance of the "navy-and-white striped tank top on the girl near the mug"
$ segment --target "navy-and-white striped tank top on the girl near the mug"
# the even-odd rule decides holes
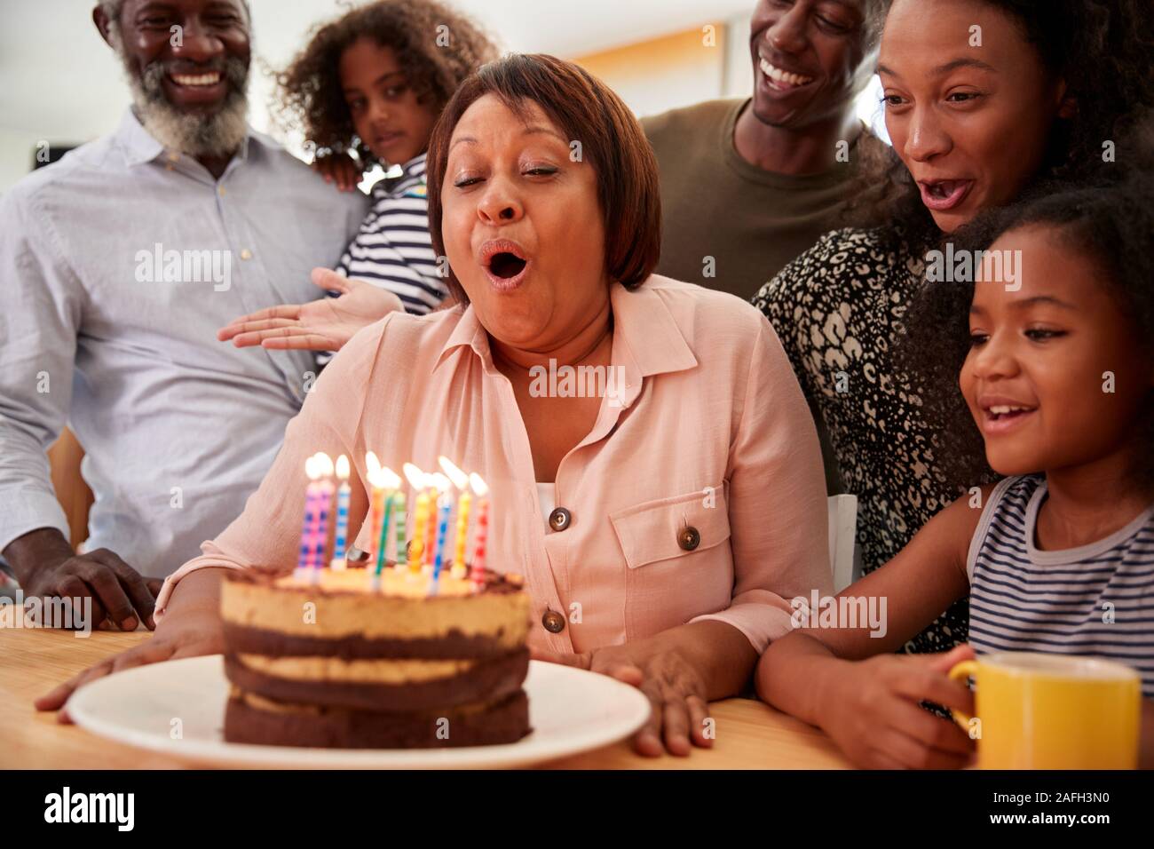
[[[1104,539],[1034,546],[1046,477],[1010,477],[969,545],[969,641],[979,654],[1046,651],[1118,661],[1154,697],[1154,505]]]

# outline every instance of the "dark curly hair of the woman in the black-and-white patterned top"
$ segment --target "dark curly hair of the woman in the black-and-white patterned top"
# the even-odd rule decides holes
[[[1037,180],[1092,179],[1102,143],[1125,136],[1154,110],[1154,2],[1152,0],[980,0],[1018,21],[1026,40],[1065,80],[1078,110],[1059,119]],[[876,14],[884,16],[893,0]],[[1117,150],[1117,159],[1126,151]],[[905,239],[929,245],[941,238],[913,177],[889,146],[863,154],[847,218],[879,230],[890,247]]]

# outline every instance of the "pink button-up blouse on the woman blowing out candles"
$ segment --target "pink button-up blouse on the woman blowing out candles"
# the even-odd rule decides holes
[[[392,313],[322,372],[245,512],[165,582],[157,620],[194,569],[295,566],[309,455],[349,456],[352,530],[367,450],[398,474],[444,454],[489,484],[488,566],[524,575],[531,645],[585,651],[717,619],[763,651],[789,630],[789,599],[832,594],[822,459],[789,362],[730,295],[654,275],[614,284],[610,304],[623,387],[557,469],[567,527],[541,521],[512,386],[474,311]],[[358,548],[368,537],[366,523]]]

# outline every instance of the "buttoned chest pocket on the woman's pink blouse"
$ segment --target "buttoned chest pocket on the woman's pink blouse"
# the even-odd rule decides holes
[[[630,569],[707,551],[729,538],[724,486],[646,501],[609,521]]]

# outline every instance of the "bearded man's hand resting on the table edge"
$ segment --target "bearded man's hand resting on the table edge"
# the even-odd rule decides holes
[[[77,612],[83,599],[92,599],[92,621],[106,618],[122,631],[149,628],[160,591],[159,579],[144,579],[107,549],[76,554],[55,528],[40,528],[14,539],[3,551],[27,597],[65,598]]]

